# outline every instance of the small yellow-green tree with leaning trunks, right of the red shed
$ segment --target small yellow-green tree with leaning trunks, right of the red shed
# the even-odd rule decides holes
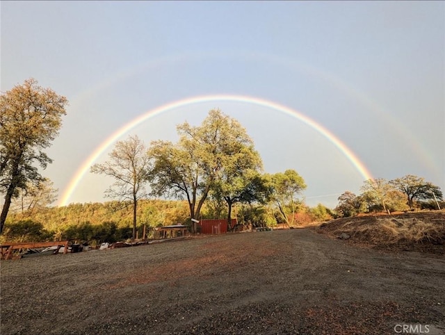
[[[295,170],[286,170],[269,176],[273,189],[272,199],[278,208],[280,217],[289,226],[295,222],[295,214],[301,201],[298,195],[306,189],[305,180]]]

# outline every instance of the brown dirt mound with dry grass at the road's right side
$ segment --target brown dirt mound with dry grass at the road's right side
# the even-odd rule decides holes
[[[381,250],[445,254],[445,211],[340,218],[321,224],[316,231]]]

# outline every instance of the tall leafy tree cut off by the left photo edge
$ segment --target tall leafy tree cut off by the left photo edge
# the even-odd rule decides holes
[[[51,145],[62,125],[67,99],[35,79],[0,96],[0,193],[5,195],[0,233],[14,197],[29,181],[40,181],[40,168],[52,162],[43,149]]]

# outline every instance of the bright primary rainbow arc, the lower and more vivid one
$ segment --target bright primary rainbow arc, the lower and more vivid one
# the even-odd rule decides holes
[[[114,142],[116,142],[120,137],[122,137],[125,133],[127,133],[131,129],[133,129],[135,126],[138,126],[138,124],[145,122],[150,117],[154,117],[155,115],[171,111],[172,109],[175,108],[181,108],[191,104],[199,104],[211,101],[233,101],[233,102],[254,104],[271,108],[276,111],[280,111],[282,113],[286,113],[293,117],[296,117],[298,120],[311,126],[313,129],[315,129],[316,131],[321,133],[325,138],[327,138],[327,140],[332,142],[332,144],[335,145],[344,154],[344,156],[346,156],[346,158],[348,158],[350,163],[352,163],[355,166],[355,168],[357,169],[359,174],[362,175],[364,180],[373,179],[371,172],[369,172],[369,170],[362,163],[362,161],[360,161],[359,158],[339,138],[337,138],[337,136],[334,136],[334,134],[331,133],[329,130],[327,130],[324,126],[322,126],[321,124],[312,120],[310,117],[307,117],[306,115],[303,115],[302,113],[296,110],[293,110],[281,104],[277,104],[276,102],[268,101],[266,99],[260,99],[257,97],[248,97],[244,95],[204,95],[204,96],[181,99],[179,101],[174,101],[171,102],[170,104],[165,104],[163,106],[159,106],[158,108],[154,108],[150,111],[143,113],[142,115],[139,115],[138,117],[131,120],[129,123],[120,127],[120,129],[112,133],[111,136],[106,138],[106,140],[104,140],[104,142],[102,142],[102,144],[99,145],[99,147],[97,147],[95,151],[92,152],[90,156],[88,156],[86,161],[84,161],[78,168],[78,170],[74,174],[74,177],[72,177],[72,179],[68,183],[67,188],[65,188],[65,191],[63,192],[62,199],[60,200],[60,206],[66,206],[68,204],[70,197],[74,192],[74,190],[76,189],[77,185],[80,183],[83,176],[90,170],[90,166],[93,163],[95,163],[97,158],[99,158],[99,156],[101,156],[108,147],[113,145]]]

